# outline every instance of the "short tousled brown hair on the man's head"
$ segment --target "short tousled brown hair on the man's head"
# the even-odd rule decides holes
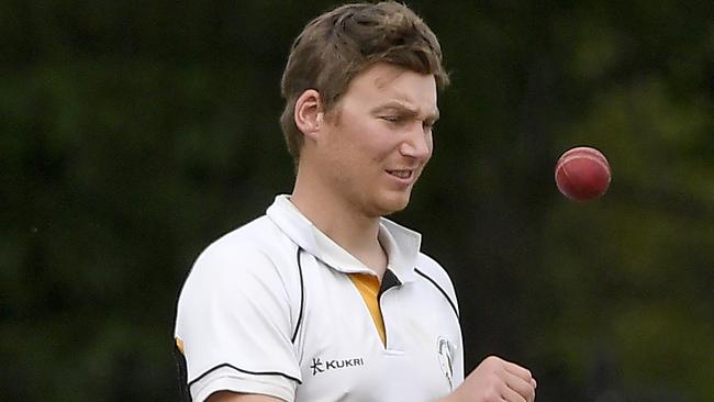
[[[282,75],[286,109],[280,118],[295,168],[304,141],[293,116],[298,98],[315,89],[330,112],[352,79],[380,62],[431,74],[439,90],[448,86],[436,35],[412,10],[394,1],[341,5],[311,21],[295,38]]]

